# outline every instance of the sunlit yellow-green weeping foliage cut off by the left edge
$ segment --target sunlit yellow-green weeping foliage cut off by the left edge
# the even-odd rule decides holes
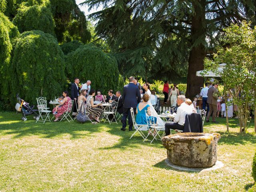
[[[9,94],[10,60],[12,42],[18,37],[19,32],[16,26],[0,12],[0,102],[1,108],[6,109]]]

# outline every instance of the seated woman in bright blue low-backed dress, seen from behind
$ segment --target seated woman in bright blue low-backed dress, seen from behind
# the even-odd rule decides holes
[[[140,102],[137,105],[137,109],[136,109],[136,123],[140,124],[140,125],[146,125],[147,124],[147,117],[146,117],[146,110],[148,111],[148,115],[150,115],[150,105],[148,104],[148,100],[149,100],[149,95],[148,94],[144,94],[143,96],[143,102]],[[149,118],[153,118],[150,117]],[[154,123],[156,123],[156,118],[153,120]],[[149,131],[151,132],[151,131]],[[154,134],[156,133],[156,130],[154,130]]]

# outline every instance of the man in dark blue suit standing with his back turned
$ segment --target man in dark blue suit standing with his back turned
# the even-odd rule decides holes
[[[122,131],[125,131],[127,116],[128,116],[128,123],[129,123],[129,131],[132,130],[133,123],[132,123],[130,108],[132,107],[135,112],[136,107],[140,102],[140,90],[138,86],[134,84],[134,82],[135,82],[135,78],[130,77],[129,84],[124,86],[124,91],[123,91],[124,107],[123,107],[123,118],[122,118],[123,126],[121,128]]]

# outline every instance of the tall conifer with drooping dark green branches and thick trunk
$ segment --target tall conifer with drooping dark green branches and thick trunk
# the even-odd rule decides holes
[[[238,0],[87,0],[82,4],[104,7],[91,17],[98,20],[97,35],[116,52],[120,70],[127,75],[154,74],[154,78],[182,76],[187,70],[187,97],[200,91],[203,78],[196,77],[196,71],[203,69],[222,28],[246,18],[245,3]]]

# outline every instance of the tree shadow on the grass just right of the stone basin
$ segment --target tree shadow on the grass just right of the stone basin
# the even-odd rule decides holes
[[[238,145],[238,144],[256,144],[256,136],[250,133],[228,133],[228,132],[218,132],[220,133],[219,145]]]

